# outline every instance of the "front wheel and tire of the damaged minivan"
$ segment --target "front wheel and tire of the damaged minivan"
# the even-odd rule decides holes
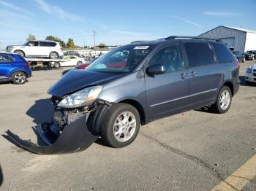
[[[129,104],[111,106],[102,122],[101,136],[110,147],[121,148],[131,144],[140,130],[140,114]]]

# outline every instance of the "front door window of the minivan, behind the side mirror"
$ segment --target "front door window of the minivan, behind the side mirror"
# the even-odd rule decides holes
[[[159,50],[148,62],[148,66],[162,65],[165,71],[178,71],[182,69],[181,54],[178,46],[173,45]]]

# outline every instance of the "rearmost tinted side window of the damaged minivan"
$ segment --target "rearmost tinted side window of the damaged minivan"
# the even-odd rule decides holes
[[[217,54],[219,63],[229,63],[234,61],[233,55],[231,55],[225,44],[211,43]]]

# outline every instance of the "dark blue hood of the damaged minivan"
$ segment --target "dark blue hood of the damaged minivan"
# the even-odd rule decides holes
[[[70,70],[58,82],[48,90],[48,94],[62,97],[74,93],[84,87],[92,85],[104,85],[114,79],[124,76],[124,74],[113,74],[99,71]]]

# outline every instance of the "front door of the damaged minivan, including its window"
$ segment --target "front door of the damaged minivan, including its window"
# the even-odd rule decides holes
[[[181,112],[187,108],[189,79],[184,69],[178,44],[160,48],[149,59],[147,66],[161,64],[165,74],[145,77],[146,95],[150,119]]]

